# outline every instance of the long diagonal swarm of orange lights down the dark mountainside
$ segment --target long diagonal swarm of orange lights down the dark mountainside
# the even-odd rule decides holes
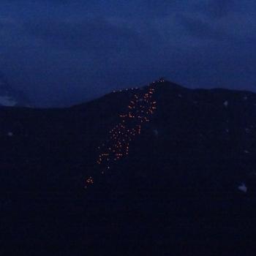
[[[110,130],[108,140],[98,147],[100,153],[97,164],[100,167],[100,174],[104,175],[116,161],[129,154],[130,142],[136,135],[140,135],[142,125],[150,120],[150,116],[157,109],[157,102],[153,99],[155,85],[163,82],[161,78],[151,83],[146,93],[135,94],[129,102],[127,113],[119,116],[119,124]],[[94,178],[90,176],[86,179],[85,188],[91,184],[94,184]]]

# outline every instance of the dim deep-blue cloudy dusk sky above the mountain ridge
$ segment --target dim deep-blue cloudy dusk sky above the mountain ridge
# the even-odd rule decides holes
[[[256,91],[254,0],[1,0],[0,71],[40,106],[160,76]]]

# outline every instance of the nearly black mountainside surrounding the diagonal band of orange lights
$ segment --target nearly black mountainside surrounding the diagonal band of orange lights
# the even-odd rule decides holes
[[[154,88],[129,156],[88,189],[98,146],[148,87],[0,108],[3,255],[255,255],[256,94]]]

